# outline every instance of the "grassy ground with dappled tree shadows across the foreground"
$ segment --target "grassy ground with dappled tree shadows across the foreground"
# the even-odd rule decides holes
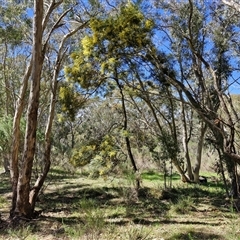
[[[220,183],[182,184],[174,176],[166,191],[161,175],[142,177],[137,198],[131,179],[93,180],[54,170],[37,203],[39,217],[15,228],[2,221],[0,239],[240,239],[237,203],[225,199]],[[11,194],[4,175],[0,194],[6,220]]]

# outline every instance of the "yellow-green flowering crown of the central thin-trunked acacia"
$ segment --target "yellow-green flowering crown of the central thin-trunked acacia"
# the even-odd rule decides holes
[[[153,22],[129,3],[117,15],[92,18],[89,26],[91,34],[82,39],[80,50],[71,55],[73,64],[65,67],[67,78],[83,88],[99,87],[126,56],[150,44]]]

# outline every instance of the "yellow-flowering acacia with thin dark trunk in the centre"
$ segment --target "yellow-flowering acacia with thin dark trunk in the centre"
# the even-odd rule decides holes
[[[125,103],[125,81],[129,76],[128,60],[138,58],[142,46],[149,42],[151,21],[134,4],[121,5],[111,16],[93,18],[90,21],[91,34],[81,41],[81,49],[72,54],[73,65],[66,67],[68,79],[77,82],[84,89],[116,87],[121,96],[123,132],[128,156],[133,171],[138,169],[128,136],[128,116]],[[90,63],[91,62],[91,63]],[[108,89],[107,89],[108,90]],[[139,180],[136,179],[137,188]]]

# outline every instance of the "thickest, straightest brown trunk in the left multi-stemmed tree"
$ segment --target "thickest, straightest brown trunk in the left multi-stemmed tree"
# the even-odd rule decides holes
[[[43,65],[42,21],[43,21],[43,0],[35,0],[33,20],[33,54],[32,54],[33,66],[31,75],[30,96],[27,110],[27,125],[24,140],[24,150],[21,162],[21,171],[19,171],[17,184],[16,208],[14,210],[15,214],[26,217],[31,217],[33,214],[31,205],[29,203],[29,192],[33,159],[35,154],[38,107],[40,96],[40,80]]]

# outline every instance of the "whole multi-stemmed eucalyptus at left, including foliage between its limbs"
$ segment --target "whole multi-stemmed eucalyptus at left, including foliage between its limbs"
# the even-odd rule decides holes
[[[26,56],[28,65],[22,75],[21,89],[16,92],[10,161],[13,191],[11,218],[18,216],[31,218],[34,215],[38,193],[50,168],[51,131],[55,116],[58,82],[61,80],[61,66],[67,51],[72,47],[70,39],[87,24],[85,19],[87,15],[84,15],[86,9],[82,8],[81,2],[78,3],[79,5],[76,5],[75,1],[35,0],[34,6],[30,4],[28,10],[25,9],[25,11],[32,12],[33,22],[30,24],[32,34],[29,32],[30,40],[28,39],[30,54]],[[79,12],[84,17],[79,17]],[[51,77],[45,74],[47,67]],[[28,86],[29,83],[30,86]],[[47,104],[48,108],[41,111],[41,104]],[[20,122],[25,111],[24,148],[20,154]],[[48,111],[48,114],[45,111]],[[44,133],[40,130],[43,127]],[[37,133],[41,132],[43,133],[42,168],[35,184],[31,186],[31,180],[34,180],[32,169],[36,145],[40,141]]]

